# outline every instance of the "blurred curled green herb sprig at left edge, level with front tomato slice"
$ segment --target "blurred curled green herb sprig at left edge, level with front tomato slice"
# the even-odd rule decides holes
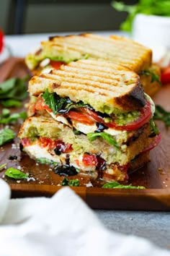
[[[4,108],[2,114],[0,115],[0,124],[14,124],[18,119],[26,119],[26,112],[14,113],[10,115],[9,109]]]

